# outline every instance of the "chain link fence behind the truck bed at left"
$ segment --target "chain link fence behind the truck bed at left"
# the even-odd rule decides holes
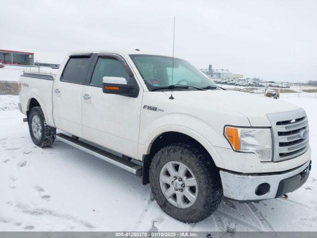
[[[23,72],[55,75],[58,69],[48,66],[0,64],[0,95],[18,95],[19,77]]]

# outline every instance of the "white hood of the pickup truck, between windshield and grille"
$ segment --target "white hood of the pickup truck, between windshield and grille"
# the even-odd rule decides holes
[[[299,109],[279,99],[232,90],[174,91],[173,96],[175,100],[206,109],[239,112],[249,119],[251,126],[271,126],[266,114]]]

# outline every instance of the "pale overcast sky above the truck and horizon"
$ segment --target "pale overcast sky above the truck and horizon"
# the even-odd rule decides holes
[[[6,0],[0,49],[60,63],[139,48],[264,80],[317,80],[317,0]]]

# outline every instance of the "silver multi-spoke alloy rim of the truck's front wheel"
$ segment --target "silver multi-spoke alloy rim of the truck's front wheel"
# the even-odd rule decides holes
[[[177,208],[192,206],[198,195],[197,180],[183,163],[166,163],[159,174],[159,184],[166,200]]]

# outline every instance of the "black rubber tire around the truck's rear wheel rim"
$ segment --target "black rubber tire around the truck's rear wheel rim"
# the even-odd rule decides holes
[[[32,120],[37,116],[39,118],[39,126],[41,126],[41,135],[37,138],[32,130]],[[39,147],[51,146],[55,140],[56,129],[47,125],[41,107],[34,107],[28,117],[29,131],[34,144]]]

